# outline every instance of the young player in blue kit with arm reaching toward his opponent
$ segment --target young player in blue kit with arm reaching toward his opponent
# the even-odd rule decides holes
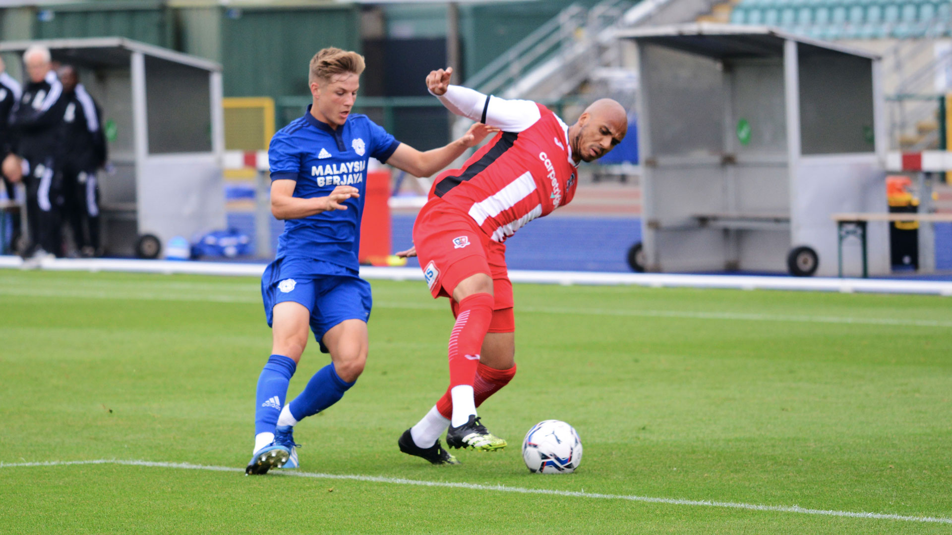
[[[271,138],[271,212],[285,220],[274,262],[261,278],[271,356],[258,379],[255,437],[246,474],[298,466],[293,430],[333,405],[367,361],[370,285],[357,253],[367,159],[429,176],[496,131],[474,125],[446,147],[421,152],[396,141],[366,116],[351,113],[364,58],[324,49],[310,60],[307,113]],[[307,346],[308,327],[331,364],[285,405],[288,382]]]

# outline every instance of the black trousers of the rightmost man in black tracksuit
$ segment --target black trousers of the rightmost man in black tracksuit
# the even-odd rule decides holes
[[[63,168],[64,216],[76,248],[99,250],[99,184],[95,170]]]

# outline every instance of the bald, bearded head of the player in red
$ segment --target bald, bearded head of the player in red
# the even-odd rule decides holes
[[[605,156],[625,139],[628,114],[610,98],[600,98],[588,105],[568,131],[573,159],[592,162]]]

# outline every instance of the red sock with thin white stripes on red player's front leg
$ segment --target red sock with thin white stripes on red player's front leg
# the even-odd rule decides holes
[[[474,293],[460,301],[456,325],[449,335],[449,387],[472,386],[479,352],[492,320],[492,295]]]

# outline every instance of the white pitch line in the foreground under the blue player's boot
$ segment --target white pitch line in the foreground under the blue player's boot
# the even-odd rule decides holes
[[[46,461],[38,463],[0,463],[0,468],[34,467],[34,466],[74,466],[74,465],[123,465],[123,466],[151,466],[157,468],[180,468],[187,470],[208,470],[215,472],[244,472],[243,468],[235,466],[208,466],[192,465],[190,463],[159,463],[154,461],[124,461],[119,459],[96,459],[92,461]],[[918,522],[928,524],[952,525],[952,518],[921,517],[886,513],[869,513],[855,511],[837,511],[831,509],[811,509],[799,505],[757,505],[737,502],[717,502],[713,500],[679,500],[676,498],[652,498],[650,496],[633,496],[625,494],[601,494],[596,492],[578,492],[572,490],[552,490],[547,488],[525,488],[505,485],[479,485],[475,483],[451,483],[442,481],[421,481],[404,478],[390,478],[382,476],[362,476],[354,474],[322,474],[317,472],[275,471],[274,474],[291,477],[313,479],[333,479],[347,481],[361,481],[367,483],[386,483],[389,485],[417,485],[439,486],[444,488],[465,488],[468,490],[492,490],[496,492],[515,492],[518,494],[544,494],[547,496],[565,496],[569,498],[588,498],[596,500],[627,500],[645,504],[664,505],[692,505],[702,507],[724,507],[730,509],[746,509],[752,511],[771,511],[782,513],[800,513],[807,515],[838,516],[846,518],[866,518],[873,520],[895,520],[902,522]]]

